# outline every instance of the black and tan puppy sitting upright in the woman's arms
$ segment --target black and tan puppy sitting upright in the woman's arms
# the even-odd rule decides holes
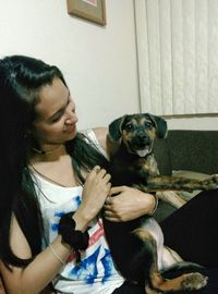
[[[109,137],[119,146],[110,158],[112,185],[134,186],[149,193],[217,188],[217,175],[197,181],[159,174],[153,146],[155,138],[166,138],[167,132],[167,122],[150,113],[126,114],[111,122]],[[207,277],[197,272],[198,265],[182,261],[164,246],[161,229],[154,218],[143,217],[129,222],[104,219],[104,226],[118,270],[128,281],[143,285],[145,293],[193,291],[207,284]],[[194,272],[165,279],[161,271],[171,266],[193,267]]]

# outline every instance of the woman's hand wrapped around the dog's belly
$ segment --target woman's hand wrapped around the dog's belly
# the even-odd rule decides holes
[[[128,186],[110,189],[106,199],[105,217],[109,221],[130,221],[144,215],[152,215],[156,206],[154,195]]]

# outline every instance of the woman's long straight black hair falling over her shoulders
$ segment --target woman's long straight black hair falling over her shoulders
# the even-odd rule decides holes
[[[10,223],[15,216],[33,258],[41,250],[43,217],[27,163],[33,140],[26,135],[35,120],[39,91],[53,78],[66,86],[61,71],[41,60],[11,56],[0,60],[0,258],[7,265],[25,266],[32,259],[21,259],[10,246]],[[107,167],[106,158],[84,140],[82,134],[66,143],[72,164],[81,183],[81,168]]]

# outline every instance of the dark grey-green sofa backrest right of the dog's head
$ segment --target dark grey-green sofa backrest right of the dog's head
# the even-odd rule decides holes
[[[218,131],[170,130],[166,139],[155,142],[160,173],[190,170],[218,173]]]

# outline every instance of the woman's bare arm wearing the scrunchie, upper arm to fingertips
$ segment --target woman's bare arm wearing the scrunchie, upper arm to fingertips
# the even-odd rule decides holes
[[[76,230],[85,231],[90,220],[102,208],[110,191],[109,181],[110,175],[99,167],[95,167],[88,173],[81,206],[73,215]],[[10,244],[17,257],[24,259],[32,257],[29,245],[15,217],[12,218],[11,222]],[[57,275],[72,249],[62,242],[60,235],[50,245],[25,268],[11,266],[12,270],[10,270],[1,262],[1,274],[9,294],[39,294]]]

